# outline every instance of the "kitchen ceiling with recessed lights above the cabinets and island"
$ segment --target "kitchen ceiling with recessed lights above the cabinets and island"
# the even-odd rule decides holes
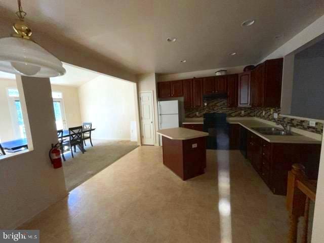
[[[69,46],[77,44],[79,51],[90,50],[134,73],[180,73],[257,63],[324,14],[324,0],[22,3],[33,32],[46,32]],[[0,6],[0,13],[6,13],[0,14],[0,22],[2,18],[13,21],[16,1],[0,0]],[[255,19],[255,24],[241,27],[248,19]],[[275,39],[276,35],[282,37]],[[170,36],[177,42],[168,43]],[[228,56],[231,52],[237,55]],[[180,63],[182,59],[187,62]]]

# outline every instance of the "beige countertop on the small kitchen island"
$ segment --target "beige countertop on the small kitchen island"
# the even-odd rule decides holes
[[[158,130],[156,133],[173,140],[187,140],[193,138],[207,137],[209,135],[205,132],[199,132],[187,128],[162,129]]]

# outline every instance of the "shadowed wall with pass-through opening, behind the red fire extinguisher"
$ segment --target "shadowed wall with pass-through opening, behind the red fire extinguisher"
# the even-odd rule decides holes
[[[33,150],[0,160],[1,229],[19,226],[67,194],[63,169],[53,169],[48,157],[57,142],[50,80],[21,79],[18,90],[25,97]]]

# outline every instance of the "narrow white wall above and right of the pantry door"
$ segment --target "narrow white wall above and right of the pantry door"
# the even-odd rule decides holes
[[[156,131],[158,130],[158,110],[157,110],[157,94],[156,94],[156,82],[157,76],[155,73],[145,73],[137,76],[137,89],[138,93],[144,91],[153,91],[153,112],[154,112],[154,145],[158,146],[158,136]],[[138,95],[139,97],[139,95]]]

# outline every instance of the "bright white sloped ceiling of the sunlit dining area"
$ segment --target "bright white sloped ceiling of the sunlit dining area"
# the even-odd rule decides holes
[[[52,85],[79,87],[101,75],[65,63],[63,63],[63,67],[65,68],[66,73],[63,76],[51,77],[50,80]],[[16,76],[11,73],[0,71],[0,78],[16,79]]]

